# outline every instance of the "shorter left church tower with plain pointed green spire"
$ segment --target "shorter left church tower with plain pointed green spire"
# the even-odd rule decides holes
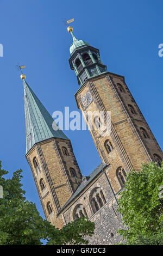
[[[32,170],[46,219],[62,227],[57,214],[82,182],[70,139],[56,126],[33,90],[21,75],[24,85],[26,119],[26,158]]]

